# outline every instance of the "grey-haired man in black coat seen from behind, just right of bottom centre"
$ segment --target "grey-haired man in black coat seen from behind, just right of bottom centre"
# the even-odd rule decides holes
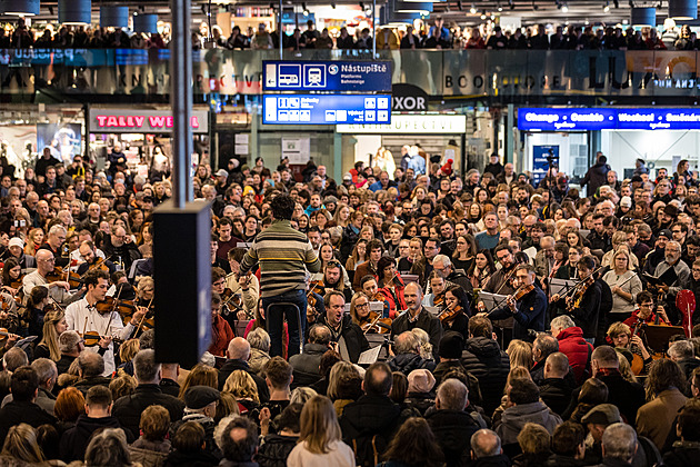
[[[442,448],[448,467],[469,464],[471,436],[481,428],[466,408],[469,391],[461,381],[451,378],[442,382],[436,397],[436,411],[426,416],[432,433]]]

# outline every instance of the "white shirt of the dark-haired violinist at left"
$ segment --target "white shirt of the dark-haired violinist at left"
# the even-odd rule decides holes
[[[126,327],[121,321],[118,311],[100,315],[97,309],[89,307],[86,298],[80,299],[66,308],[66,324],[69,330],[74,330],[81,335],[84,332],[97,332],[100,336],[112,336],[127,340],[136,329],[131,322]],[[98,351],[99,346],[86,347],[86,350]],[[102,376],[110,376],[117,370],[114,365],[114,345],[110,342],[104,352],[104,372]]]

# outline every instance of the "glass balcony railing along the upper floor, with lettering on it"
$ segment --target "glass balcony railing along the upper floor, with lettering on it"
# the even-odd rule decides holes
[[[696,51],[382,50],[392,82],[442,97],[689,97],[700,93]],[[371,60],[371,51],[283,52],[286,60]],[[263,60],[277,50],[193,52],[194,95],[261,93]],[[163,99],[170,87],[168,49],[0,50],[0,97],[61,95]],[[6,98],[7,100],[7,98]]]

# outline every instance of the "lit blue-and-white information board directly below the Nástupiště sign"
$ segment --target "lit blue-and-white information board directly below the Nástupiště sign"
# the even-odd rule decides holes
[[[387,95],[266,95],[262,122],[271,125],[390,123]]]

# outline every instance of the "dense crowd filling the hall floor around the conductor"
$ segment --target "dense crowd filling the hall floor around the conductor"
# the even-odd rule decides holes
[[[119,146],[108,161],[0,163],[0,465],[694,465],[687,160],[618,180],[598,153],[580,189],[418,146],[341,180],[201,165],[212,341],[194,367],[153,350],[169,172],[131,173]]]

